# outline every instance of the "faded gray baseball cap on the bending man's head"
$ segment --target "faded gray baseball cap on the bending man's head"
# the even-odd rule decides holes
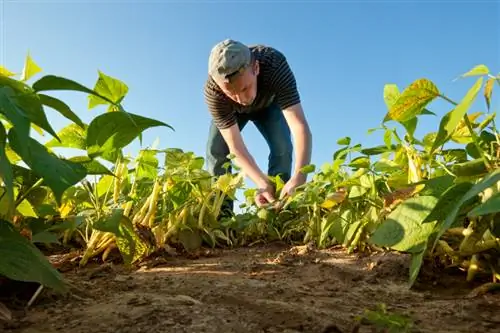
[[[215,80],[224,80],[246,68],[251,59],[252,52],[248,46],[232,39],[223,40],[210,52],[208,74]]]

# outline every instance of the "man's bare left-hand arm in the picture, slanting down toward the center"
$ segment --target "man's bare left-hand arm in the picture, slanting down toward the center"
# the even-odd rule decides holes
[[[221,129],[220,132],[229,147],[229,151],[235,155],[236,164],[242,168],[243,172],[250,177],[260,189],[266,189],[269,186],[267,176],[260,170],[252,155],[248,152],[243,142],[238,124]]]

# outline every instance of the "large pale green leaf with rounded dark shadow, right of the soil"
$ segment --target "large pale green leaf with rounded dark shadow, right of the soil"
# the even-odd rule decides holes
[[[420,196],[402,202],[370,238],[370,242],[396,251],[419,253],[426,249],[434,223],[423,223],[438,202],[434,196]]]

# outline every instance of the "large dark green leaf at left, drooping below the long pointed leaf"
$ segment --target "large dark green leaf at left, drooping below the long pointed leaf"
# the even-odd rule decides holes
[[[15,128],[9,131],[9,142],[12,149],[22,157],[31,170],[44,179],[44,183],[54,192],[58,204],[61,204],[64,191],[86,176],[84,166],[59,159],[32,138],[23,141]]]

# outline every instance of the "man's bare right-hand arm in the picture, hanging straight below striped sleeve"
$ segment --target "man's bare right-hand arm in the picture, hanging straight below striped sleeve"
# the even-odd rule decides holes
[[[284,109],[283,115],[290,127],[295,146],[295,166],[292,178],[302,184],[306,181],[307,176],[302,174],[300,170],[311,163],[312,133],[301,103]]]

